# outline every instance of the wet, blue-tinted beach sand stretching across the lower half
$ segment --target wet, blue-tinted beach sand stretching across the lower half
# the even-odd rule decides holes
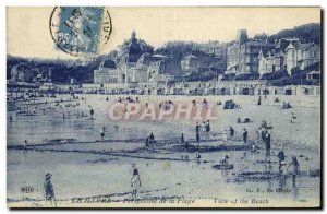
[[[57,98],[38,98],[40,109],[35,116],[15,115],[13,121],[8,122],[8,202],[9,206],[27,204],[27,206],[44,206],[43,179],[44,175],[51,173],[57,200],[65,206],[81,204],[72,203],[73,198],[89,198],[109,194],[118,200],[130,198],[130,179],[133,167],[140,170],[143,186],[140,189],[141,199],[156,197],[186,199],[206,198],[210,202],[215,198],[268,198],[267,206],[282,203],[284,206],[307,206],[318,204],[320,180],[319,177],[301,176],[294,187],[289,178],[286,183],[278,179],[238,182],[239,174],[244,171],[264,171],[264,145],[257,144],[258,153],[253,154],[246,146],[239,151],[228,150],[203,150],[201,163],[196,163],[194,151],[174,152],[168,147],[158,151],[144,150],[144,139],[154,132],[160,144],[175,145],[181,132],[185,134],[185,141],[196,147],[194,143],[195,121],[111,121],[106,117],[108,106],[112,105],[119,96],[106,95],[77,95],[85,97],[80,99],[80,106],[59,109],[51,99],[69,99],[70,95],[61,95]],[[135,97],[135,96],[132,96]],[[147,97],[138,96],[141,103],[152,100],[172,99],[175,103],[182,97]],[[208,102],[234,99],[241,105],[240,109],[222,110],[217,106],[218,121],[211,121],[209,136],[202,135],[198,150],[204,147],[219,147],[223,144],[221,132],[232,126],[235,138],[229,142],[229,146],[242,146],[241,131],[246,128],[250,142],[255,141],[255,130],[263,119],[272,126],[271,133],[271,162],[272,170],[278,169],[277,152],[284,144],[287,163],[291,155],[296,155],[301,171],[319,169],[320,166],[320,100],[313,96],[279,96],[281,100],[290,102],[293,108],[282,110],[281,104],[276,104],[274,97],[262,97],[262,106],[256,106],[257,96],[213,96],[205,97]],[[183,102],[201,102],[203,97],[183,97]],[[65,104],[76,102],[66,102]],[[22,105],[23,102],[16,105]],[[96,104],[96,105],[95,105]],[[95,119],[89,119],[89,105],[95,109]],[[33,105],[31,105],[33,106]],[[86,117],[81,117],[83,111]],[[68,116],[63,120],[62,114]],[[290,123],[291,112],[296,116],[295,123]],[[9,117],[9,116],[8,116]],[[237,123],[238,117],[250,117],[251,123]],[[113,129],[119,124],[119,131]],[[106,127],[105,140],[100,139],[101,127]],[[287,131],[286,131],[287,130]],[[169,134],[168,134],[169,133]],[[21,150],[24,139],[31,146],[27,154]],[[164,143],[162,143],[164,142]],[[228,154],[234,168],[221,171],[213,168]],[[301,157],[300,157],[301,155]],[[185,160],[189,156],[189,160]],[[308,175],[308,174],[307,174]],[[247,192],[247,189],[276,189],[283,186],[290,192]],[[31,186],[33,193],[22,193],[22,186]],[[36,191],[37,190],[37,191]],[[158,190],[158,191],[157,191]],[[32,201],[31,201],[32,200]],[[34,201],[33,201],[34,200]],[[36,200],[36,201],[35,201]],[[84,204],[85,205],[85,204]],[[99,203],[88,205],[99,206]],[[102,204],[104,205],[104,204]],[[105,204],[106,205],[106,204]],[[107,204],[107,205],[112,205]],[[217,206],[223,206],[218,203]],[[226,205],[226,204],[225,204]],[[241,205],[241,204],[239,204]],[[255,205],[255,204],[253,204]],[[257,204],[256,206],[259,206]],[[60,206],[60,204],[58,204]]]

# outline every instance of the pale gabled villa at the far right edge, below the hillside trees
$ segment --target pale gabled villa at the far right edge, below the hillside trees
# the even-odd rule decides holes
[[[293,69],[306,70],[320,62],[320,47],[314,43],[292,41],[286,48],[286,68],[289,75]]]

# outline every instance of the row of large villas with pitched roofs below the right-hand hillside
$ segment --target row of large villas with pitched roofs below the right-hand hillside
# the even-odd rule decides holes
[[[301,43],[299,38],[249,39],[245,29],[239,29],[235,41],[228,47],[227,73],[252,73],[263,76],[284,70],[312,70],[320,62],[320,47],[314,43]]]

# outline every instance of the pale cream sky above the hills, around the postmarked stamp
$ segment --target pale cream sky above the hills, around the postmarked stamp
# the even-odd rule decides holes
[[[320,23],[320,8],[108,8],[112,34],[100,54],[108,54],[132,31],[155,48],[172,40],[231,41],[238,29],[249,37]],[[27,58],[74,58],[55,48],[49,31],[53,8],[7,9],[7,52]]]

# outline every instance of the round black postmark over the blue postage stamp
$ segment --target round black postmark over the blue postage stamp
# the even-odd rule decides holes
[[[112,21],[105,7],[56,7],[49,28],[57,49],[80,57],[105,49]]]

